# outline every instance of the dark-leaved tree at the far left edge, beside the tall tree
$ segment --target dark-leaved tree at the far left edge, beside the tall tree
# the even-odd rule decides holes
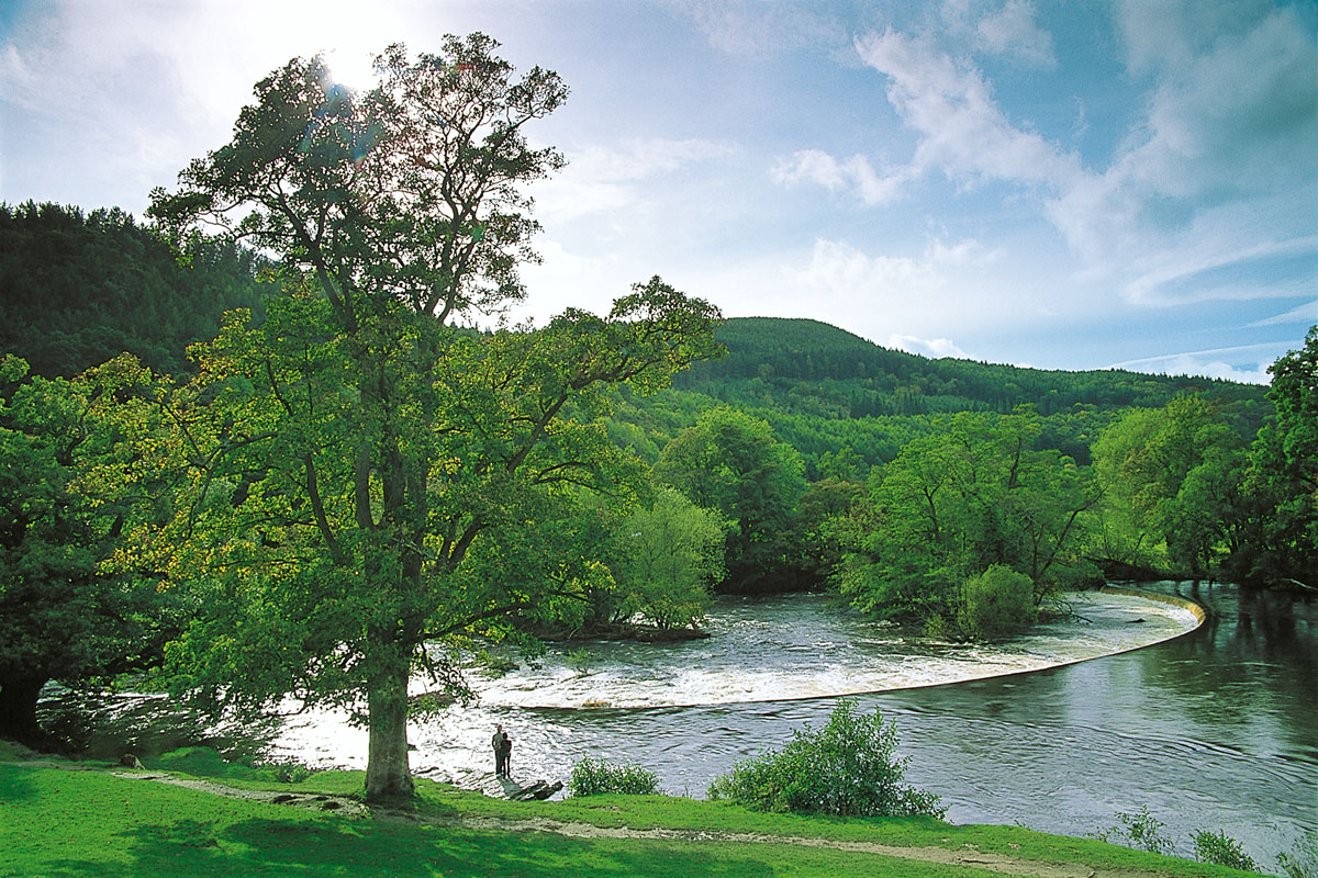
[[[161,661],[179,609],[150,579],[103,567],[116,538],[154,520],[162,474],[134,473],[125,441],[152,412],[113,399],[125,359],[74,380],[0,358],[0,736],[59,745],[37,724],[49,681],[80,686]]]

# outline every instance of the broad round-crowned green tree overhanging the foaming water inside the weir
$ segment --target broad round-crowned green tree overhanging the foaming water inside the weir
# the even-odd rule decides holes
[[[1057,452],[1031,450],[1039,420],[960,413],[870,473],[838,523],[833,574],[854,607],[903,623],[963,615],[963,583],[994,565],[1032,584],[1032,603],[1093,575],[1083,557],[1098,492]]]

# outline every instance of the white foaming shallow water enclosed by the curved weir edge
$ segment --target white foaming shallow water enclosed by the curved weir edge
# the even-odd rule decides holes
[[[779,612],[816,602],[822,617]],[[1043,670],[1178,637],[1203,621],[1195,604],[1130,588],[1082,592],[1072,617],[1000,645],[903,636],[817,596],[725,600],[708,640],[592,642],[477,678],[489,708],[651,708],[783,702],[941,686]]]

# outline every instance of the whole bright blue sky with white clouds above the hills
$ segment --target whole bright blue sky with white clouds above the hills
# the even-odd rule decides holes
[[[0,201],[141,217],[290,58],[369,87],[473,30],[571,88],[514,319],[660,275],[932,357],[1257,383],[1318,324],[1313,0],[0,0]]]

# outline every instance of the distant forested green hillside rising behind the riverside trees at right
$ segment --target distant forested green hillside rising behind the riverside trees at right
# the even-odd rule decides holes
[[[1197,395],[1243,437],[1257,433],[1271,411],[1265,388],[1255,384],[928,359],[815,320],[730,319],[717,338],[728,354],[693,365],[675,378],[673,390],[619,400],[616,420],[626,425],[610,425],[619,440],[654,459],[675,429],[712,404],[726,404],[767,421],[816,479],[840,475],[840,454],[859,457],[863,475],[933,429],[936,416],[954,412],[1010,415],[1032,405],[1041,416],[1035,445],[1087,465],[1098,433],[1126,408],[1159,408]]]

